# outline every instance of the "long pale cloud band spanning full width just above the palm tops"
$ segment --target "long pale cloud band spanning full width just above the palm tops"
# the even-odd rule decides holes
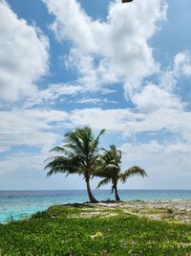
[[[108,131],[120,132],[124,138],[134,138],[142,132],[160,134],[162,130],[166,130],[182,141],[191,142],[191,113],[180,109],[161,108],[149,113],[128,108],[97,107],[74,109],[70,112],[40,108],[14,109],[0,112],[0,118],[1,151],[22,145],[50,149],[59,143],[66,128],[83,126],[107,128]]]

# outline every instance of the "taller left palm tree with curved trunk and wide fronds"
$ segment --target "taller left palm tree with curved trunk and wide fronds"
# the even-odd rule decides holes
[[[105,129],[102,129],[95,138],[91,128],[76,128],[64,137],[64,144],[55,147],[51,151],[61,155],[49,158],[45,169],[50,169],[47,176],[57,173],[66,175],[83,175],[88,196],[91,202],[97,202],[90,187],[90,178],[97,167],[99,137]]]

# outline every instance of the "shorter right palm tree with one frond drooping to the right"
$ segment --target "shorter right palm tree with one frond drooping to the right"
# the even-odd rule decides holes
[[[102,162],[102,164],[99,164],[101,167],[96,171],[96,176],[104,177],[104,179],[98,183],[97,188],[112,182],[112,193],[115,191],[117,201],[120,200],[117,193],[118,180],[125,183],[127,178],[133,175],[147,176],[146,172],[138,166],[131,167],[121,172],[121,151],[118,151],[115,145],[110,146],[109,151],[104,150],[99,161]]]

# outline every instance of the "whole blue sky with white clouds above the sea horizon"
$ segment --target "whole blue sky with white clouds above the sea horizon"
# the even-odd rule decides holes
[[[85,126],[106,128],[100,148],[116,144],[122,170],[147,172],[120,189],[191,189],[190,10],[190,0],[0,0],[0,190],[85,189],[44,170]]]

